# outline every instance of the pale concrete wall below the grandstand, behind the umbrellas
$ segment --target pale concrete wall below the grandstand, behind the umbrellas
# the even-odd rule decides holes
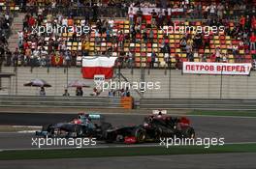
[[[3,72],[13,72],[13,68],[3,68]],[[132,82],[141,79],[141,70],[121,70],[121,73]],[[67,85],[67,74],[63,68],[35,68],[32,72],[30,68],[17,68],[17,76],[12,79],[12,95],[38,95],[39,89],[24,87],[23,84],[33,78],[45,79],[52,85],[47,89],[48,96],[61,96]],[[17,86],[16,86],[17,79]],[[81,79],[80,68],[69,69],[68,81]],[[144,98],[162,99],[256,99],[256,72],[252,71],[250,76],[221,76],[220,75],[197,75],[181,74],[180,70],[144,70],[145,82],[160,82],[160,90],[147,90]],[[85,95],[89,96],[93,88],[93,80],[83,79],[91,88],[84,89]],[[7,86],[8,80],[2,80],[2,86]],[[17,93],[16,93],[17,89]],[[75,95],[75,88],[69,89],[71,95]],[[0,95],[7,95],[7,90],[0,91]],[[101,96],[107,96],[104,92]],[[135,98],[140,96],[132,91]]]

